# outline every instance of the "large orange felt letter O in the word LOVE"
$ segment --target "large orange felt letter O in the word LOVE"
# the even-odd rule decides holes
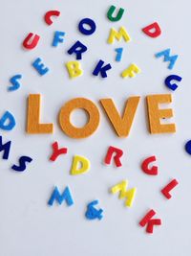
[[[85,110],[89,115],[89,121],[83,128],[76,128],[71,124],[70,116],[76,108]],[[59,125],[71,138],[82,139],[92,135],[99,125],[99,111],[96,105],[85,98],[75,98],[63,105],[59,112]]]

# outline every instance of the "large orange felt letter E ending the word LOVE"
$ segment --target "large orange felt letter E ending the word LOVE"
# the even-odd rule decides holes
[[[149,116],[149,126],[150,132],[155,133],[173,133],[176,132],[175,124],[160,124],[161,118],[171,118],[173,117],[173,110],[159,109],[159,104],[169,104],[172,102],[171,94],[156,94],[147,96],[147,107]]]

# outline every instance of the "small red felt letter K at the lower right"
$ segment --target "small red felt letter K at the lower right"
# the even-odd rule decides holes
[[[140,226],[145,226],[147,224],[146,232],[153,233],[154,225],[161,225],[160,219],[152,219],[156,215],[154,210],[150,210],[141,221],[139,221]]]

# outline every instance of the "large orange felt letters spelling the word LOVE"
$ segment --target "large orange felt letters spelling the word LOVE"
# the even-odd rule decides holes
[[[53,133],[53,124],[40,123],[40,94],[30,94],[27,110],[27,133]],[[104,110],[109,122],[117,133],[118,137],[127,137],[133,125],[138,109],[140,97],[129,97],[124,104],[124,111],[120,115],[114,100],[100,99],[99,104]],[[150,133],[176,132],[175,124],[162,124],[160,119],[173,117],[171,108],[159,108],[159,104],[170,104],[171,94],[156,94],[146,97],[147,112]],[[89,120],[82,128],[74,127],[71,122],[71,114],[75,109],[82,109],[89,115]],[[99,110],[97,106],[86,98],[75,98],[62,105],[58,114],[58,122],[61,130],[71,138],[81,139],[91,136],[99,125]]]

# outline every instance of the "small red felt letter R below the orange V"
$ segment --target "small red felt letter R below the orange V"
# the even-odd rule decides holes
[[[120,167],[120,166],[122,166],[122,164],[120,162],[120,157],[122,155],[123,155],[123,151],[111,146],[111,147],[109,147],[109,149],[107,151],[104,162],[105,162],[105,164],[110,165],[112,157],[114,156],[113,158],[114,158],[116,166]]]

